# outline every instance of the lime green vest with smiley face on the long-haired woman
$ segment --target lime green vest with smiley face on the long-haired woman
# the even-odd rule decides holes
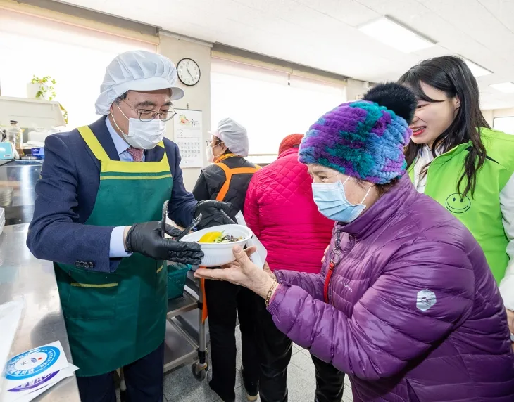
[[[514,172],[514,136],[491,129],[480,131],[487,159],[477,173],[474,196],[470,193],[461,196],[457,190],[471,143],[458,145],[432,161],[427,171],[425,194],[444,205],[475,236],[496,282],[500,283],[509,261],[500,192]],[[409,176],[414,182],[414,164],[410,166]],[[464,189],[466,183],[464,179],[460,188]]]

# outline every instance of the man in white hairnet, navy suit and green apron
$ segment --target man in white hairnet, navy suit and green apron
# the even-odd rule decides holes
[[[124,368],[129,401],[163,398],[167,264],[200,264],[199,245],[177,242],[168,216],[187,226],[232,222],[229,204],[197,202],[182,183],[175,115],[177,70],[168,58],[130,51],[108,65],[89,126],[46,138],[27,245],[54,261],[82,402],[114,402]]]

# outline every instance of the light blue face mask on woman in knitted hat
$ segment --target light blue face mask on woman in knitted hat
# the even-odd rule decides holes
[[[346,181],[349,179],[346,179]],[[341,183],[340,180],[335,183],[313,183],[313,196],[318,209],[328,219],[350,223],[355,221],[364,211],[366,206],[363,202],[368,197],[371,188],[369,188],[360,204],[353,205],[344,193],[346,181],[344,183]]]

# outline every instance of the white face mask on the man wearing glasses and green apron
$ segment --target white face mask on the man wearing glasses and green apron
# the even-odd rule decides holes
[[[118,104],[116,104],[118,106]],[[118,106],[120,109],[120,106]],[[166,123],[161,119],[155,118],[150,122],[142,122],[139,119],[133,119],[132,117],[125,116],[123,110],[120,109],[121,114],[129,121],[129,132],[125,134],[113,116],[113,122],[118,127],[118,130],[123,134],[123,139],[127,143],[134,147],[144,150],[150,150],[163,141],[164,134],[166,133]]]

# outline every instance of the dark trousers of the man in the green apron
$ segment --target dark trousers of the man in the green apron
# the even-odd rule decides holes
[[[155,351],[125,365],[127,402],[163,402],[164,342]],[[114,372],[77,377],[82,402],[116,402]]]

